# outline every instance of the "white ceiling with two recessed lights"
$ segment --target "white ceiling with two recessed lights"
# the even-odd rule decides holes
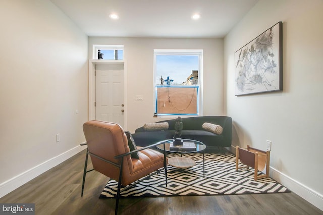
[[[258,1],[51,0],[88,36],[172,38],[223,38]]]

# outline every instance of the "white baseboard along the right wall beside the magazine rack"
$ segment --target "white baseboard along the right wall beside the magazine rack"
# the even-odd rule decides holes
[[[232,146],[230,151],[233,154],[236,154],[236,146]],[[292,179],[291,177],[285,175],[284,173],[270,167],[270,177],[277,182],[281,183],[287,187],[292,192],[296,193],[315,207],[320,210],[323,210],[323,195],[316,192],[315,190],[310,189],[309,187],[299,183],[298,181]]]

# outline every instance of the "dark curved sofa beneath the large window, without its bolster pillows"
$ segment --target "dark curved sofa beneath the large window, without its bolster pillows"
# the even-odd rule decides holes
[[[206,146],[230,147],[232,138],[232,118],[228,116],[196,116],[182,118],[183,139],[194,139],[203,142]],[[167,130],[145,131],[144,127],[137,128],[132,134],[138,146],[148,146],[158,141],[174,137],[175,119],[159,122],[168,122]],[[204,122],[220,125],[223,128],[221,135],[214,134],[202,128]]]

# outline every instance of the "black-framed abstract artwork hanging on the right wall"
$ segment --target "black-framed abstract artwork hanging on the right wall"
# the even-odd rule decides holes
[[[235,52],[235,95],[283,90],[282,22]]]

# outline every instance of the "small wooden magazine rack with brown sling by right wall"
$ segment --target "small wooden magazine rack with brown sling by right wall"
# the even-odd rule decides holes
[[[269,177],[269,155],[270,151],[262,151],[247,145],[247,148],[236,147],[236,171],[241,168],[254,168],[254,180]],[[239,159],[243,166],[238,166]],[[258,175],[258,170],[263,171],[266,167],[266,174]]]

